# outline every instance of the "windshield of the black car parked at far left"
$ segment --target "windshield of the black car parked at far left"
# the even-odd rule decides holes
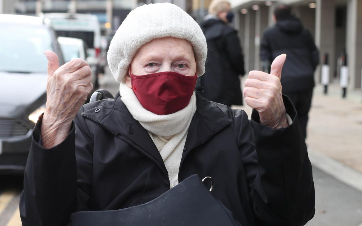
[[[44,51],[53,50],[51,36],[45,27],[0,24],[0,71],[46,73]]]

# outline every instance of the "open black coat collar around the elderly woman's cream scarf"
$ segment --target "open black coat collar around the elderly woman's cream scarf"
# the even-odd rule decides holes
[[[196,112],[191,120],[181,164],[187,153],[199,144],[206,142],[216,132],[232,123],[218,105],[204,99],[196,92]],[[100,110],[96,110],[100,109]],[[114,136],[125,140],[144,155],[156,162],[167,173],[162,157],[148,132],[136,121],[126,105],[121,101],[119,92],[114,99],[107,99],[94,108],[81,113],[84,117],[98,123]]]

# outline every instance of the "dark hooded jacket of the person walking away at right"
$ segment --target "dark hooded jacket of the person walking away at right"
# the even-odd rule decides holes
[[[312,89],[319,52],[310,32],[294,16],[278,21],[262,38],[262,61],[271,63],[282,53],[287,55],[281,78],[283,93]]]

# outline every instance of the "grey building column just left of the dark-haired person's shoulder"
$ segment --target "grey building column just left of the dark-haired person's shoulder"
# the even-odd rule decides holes
[[[254,69],[262,70],[260,62],[260,42],[264,30],[268,27],[268,6],[261,5],[259,10],[255,11],[255,56],[254,56]]]

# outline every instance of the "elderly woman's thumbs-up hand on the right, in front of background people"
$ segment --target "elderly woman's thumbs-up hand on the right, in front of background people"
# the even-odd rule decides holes
[[[260,123],[272,129],[288,126],[280,78],[286,55],[277,56],[270,74],[250,71],[245,81],[245,102],[259,113]]]

